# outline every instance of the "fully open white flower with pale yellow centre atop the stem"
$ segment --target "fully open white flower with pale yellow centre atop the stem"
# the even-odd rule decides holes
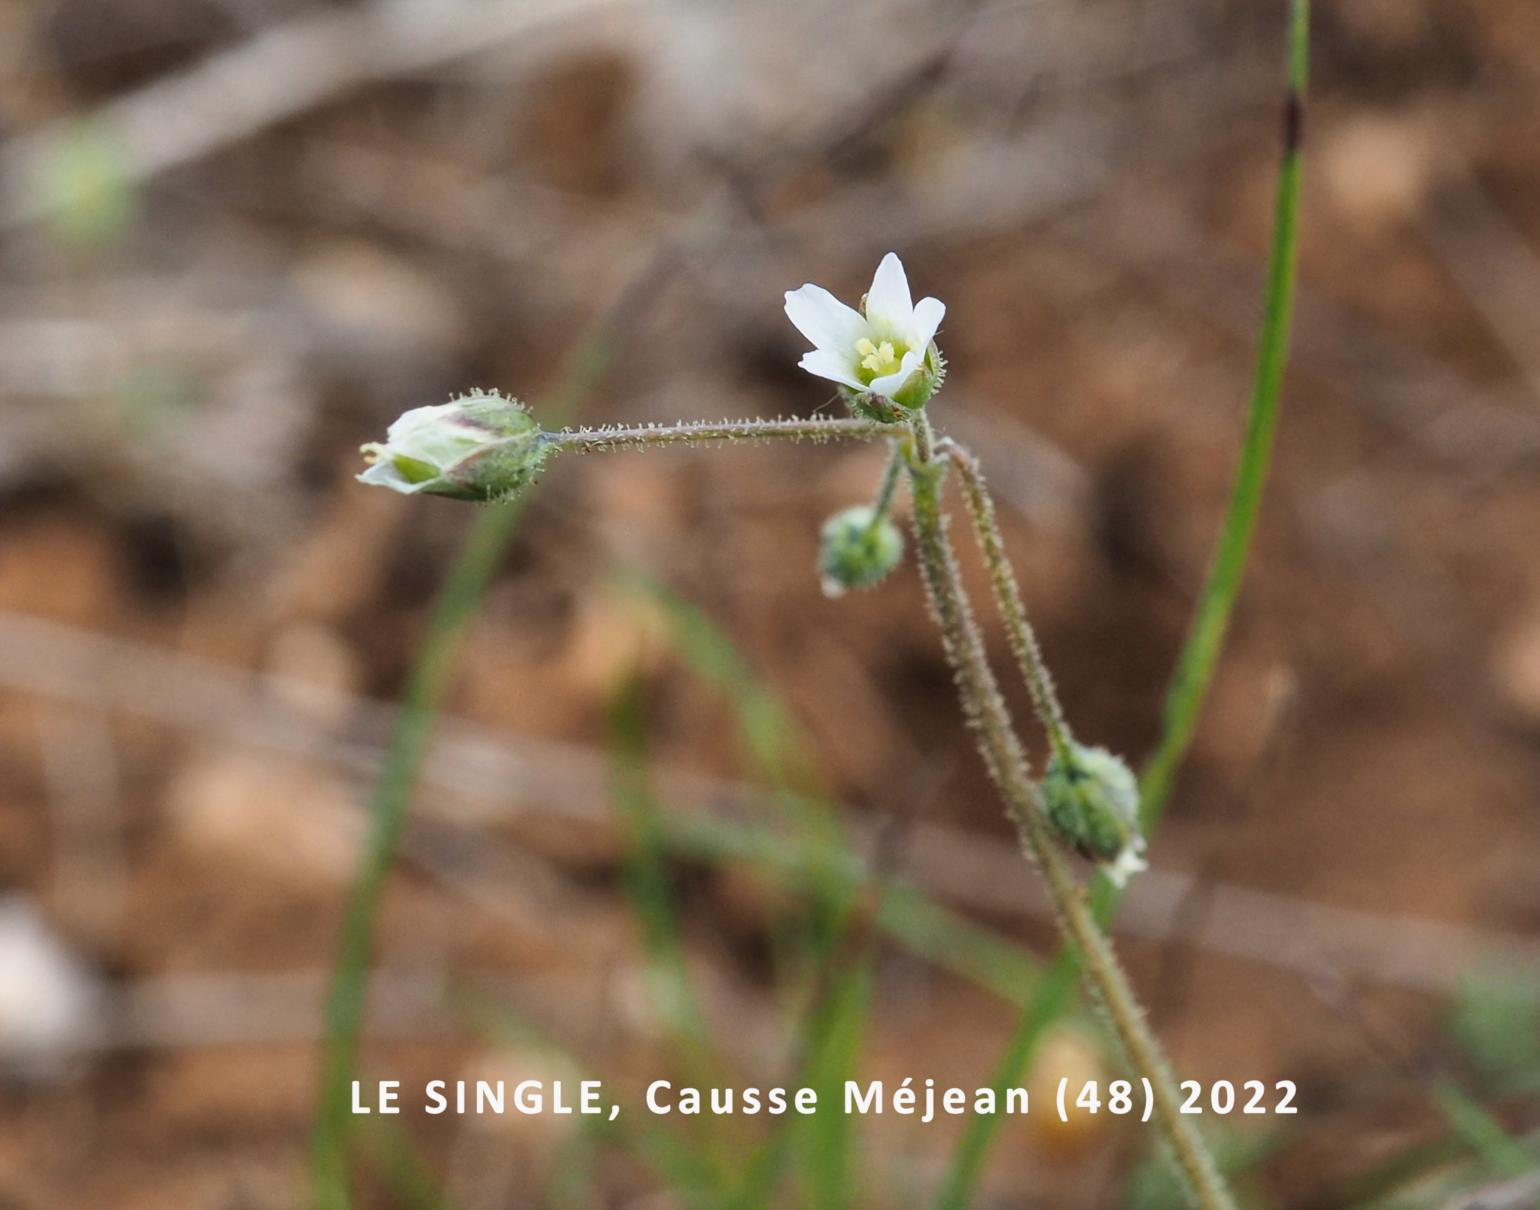
[[[785,292],[787,317],[815,345],[802,369],[902,408],[922,406],[939,383],[941,354],[933,340],[946,313],[938,299],[910,300],[895,252],[876,266],[861,311],[822,286]]]

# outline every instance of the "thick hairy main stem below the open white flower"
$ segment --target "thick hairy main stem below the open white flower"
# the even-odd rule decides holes
[[[913,422],[909,473],[915,502],[915,540],[926,591],[984,765],[1010,808],[1027,856],[1043,870],[1060,927],[1080,950],[1087,985],[1106,1008],[1129,1064],[1149,1081],[1155,1118],[1197,1205],[1203,1210],[1232,1210],[1234,1202],[1214,1159],[1192,1122],[1181,1115],[1177,1084],[1127,976],[1092,918],[1081,887],[1049,830],[1036,787],[1027,773],[1021,742],[1010,725],[1010,713],[984,656],[978,622],[947,537],[941,514],[944,463],[936,459],[924,413]]]

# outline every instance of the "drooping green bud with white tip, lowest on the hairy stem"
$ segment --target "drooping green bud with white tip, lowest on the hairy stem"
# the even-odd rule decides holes
[[[1043,777],[1043,808],[1060,837],[1123,885],[1144,868],[1140,784],[1121,757],[1069,740]]]

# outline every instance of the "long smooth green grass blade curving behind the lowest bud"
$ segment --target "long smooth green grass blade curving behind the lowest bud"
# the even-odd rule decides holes
[[[1287,359],[1289,328],[1294,314],[1294,280],[1298,254],[1301,137],[1304,97],[1309,80],[1309,0],[1289,0],[1289,68],[1283,122],[1283,162],[1274,200],[1272,246],[1267,256],[1267,286],[1257,343],[1257,365],[1247,408],[1246,436],[1241,443],[1235,483],[1226,506],[1224,523],[1215,545],[1214,563],[1177,668],[1161,716],[1161,737],[1140,779],[1140,802],[1144,833],[1149,836],[1177,779],[1177,771],[1192,744],[1198,713],[1207,696],[1214,668],[1223,645],[1240,591],[1246,553],[1257,528],[1257,513],[1272,456],[1274,433],[1278,425],[1278,403],[1283,394],[1283,371]],[[1096,879],[1092,908],[1106,925],[1116,913],[1121,894],[1104,877]],[[1043,1035],[1053,1024],[1058,1010],[1070,1001],[1075,985],[1076,956],[1061,948],[1038,987],[1023,1008],[1007,1051],[995,1071],[1003,1085],[1018,1084]],[[942,1181],[936,1210],[962,1210],[973,1198],[984,1172],[986,1155],[999,1133],[998,1115],[975,1116],[964,1131],[952,1167]]]

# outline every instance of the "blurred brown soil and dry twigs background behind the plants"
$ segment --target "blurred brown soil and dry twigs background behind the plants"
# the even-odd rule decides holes
[[[1540,954],[1540,8],[1317,15],[1275,476],[1121,921],[1183,1073],[1300,1082],[1257,1176],[1291,1207],[1449,1133],[1429,1088],[1483,1091],[1445,1028],[1463,981]],[[6,0],[0,1205],[303,1202],[363,805],[473,517],[357,486],[357,446],[473,385],[541,409],[604,316],[587,422],[808,413],[781,291],[855,299],[899,251],[947,303],[935,420],[984,456],[1076,731],[1143,754],[1243,422],[1281,55],[1283,6],[1226,0]],[[819,594],[818,523],[879,466],[553,466],[390,887],[371,1071],[561,1070],[448,1011],[456,974],[621,1084],[656,1068],[618,685],[647,676],[670,807],[716,810],[744,762],[616,568],[739,643],[899,873],[1049,948],[912,568]],[[708,1013],[772,1079],[785,905],[678,873]],[[1010,1019],[884,945],[862,1070],[976,1084]],[[403,1125],[467,1210],[536,1204],[567,1130]],[[929,1188],[953,1133],[873,1124],[859,1204]],[[979,1204],[1121,1204],[1146,1139],[1009,1124]],[[604,1204],[654,1184],[599,1168]]]

